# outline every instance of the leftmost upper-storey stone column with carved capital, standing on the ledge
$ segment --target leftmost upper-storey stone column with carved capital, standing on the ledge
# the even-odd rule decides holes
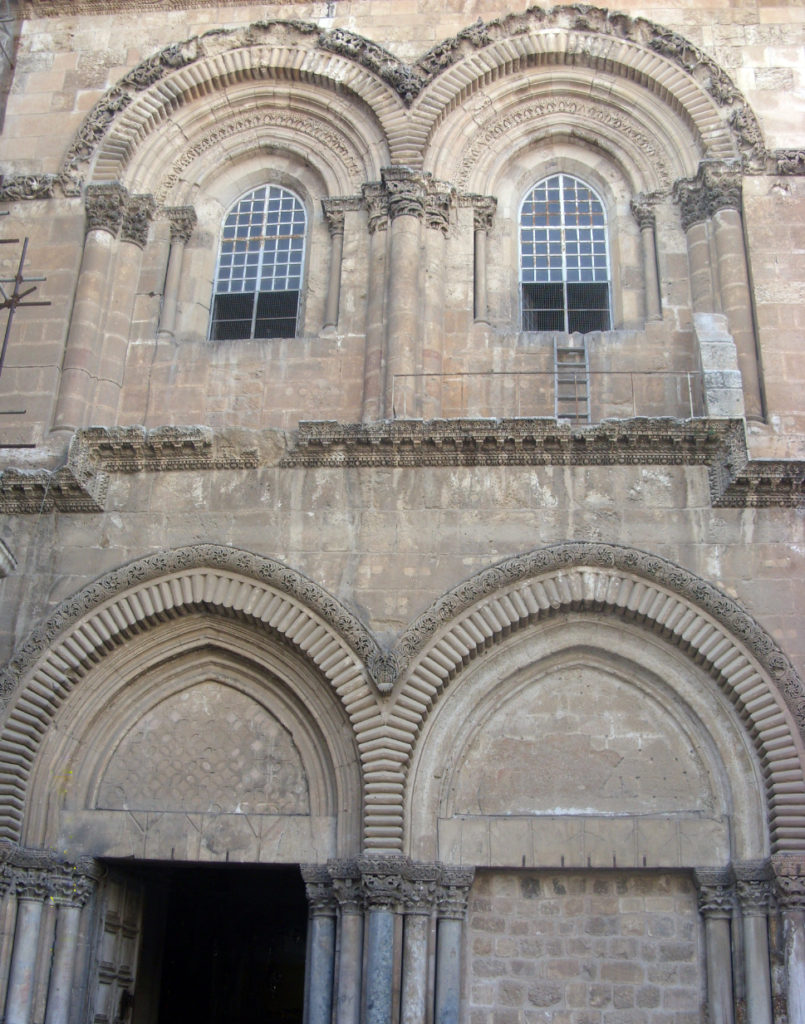
[[[90,185],[86,195],[87,233],[73,314],[61,364],[54,430],[87,426],[98,377],[98,336],[105,311],[110,266],[126,207],[119,184]]]

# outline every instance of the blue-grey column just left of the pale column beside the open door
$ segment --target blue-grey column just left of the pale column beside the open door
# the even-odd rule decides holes
[[[37,867],[12,867],[12,885],[16,895],[16,923],[5,1024],[30,1024],[34,1000],[34,985],[39,948],[39,928],[42,910],[48,896],[47,873]]]

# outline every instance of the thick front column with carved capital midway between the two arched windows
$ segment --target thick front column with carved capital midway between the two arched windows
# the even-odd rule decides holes
[[[386,313],[384,415],[416,415],[421,370],[419,294],[421,225],[425,216],[427,179],[408,167],[383,171],[391,221]]]

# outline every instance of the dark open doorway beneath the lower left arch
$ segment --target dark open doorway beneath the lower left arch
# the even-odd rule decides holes
[[[142,878],[132,1024],[301,1024],[298,868],[161,865]]]

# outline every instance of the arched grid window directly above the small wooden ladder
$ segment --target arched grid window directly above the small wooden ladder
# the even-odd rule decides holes
[[[608,331],[606,215],[569,174],[538,182],[520,210],[523,331]]]

